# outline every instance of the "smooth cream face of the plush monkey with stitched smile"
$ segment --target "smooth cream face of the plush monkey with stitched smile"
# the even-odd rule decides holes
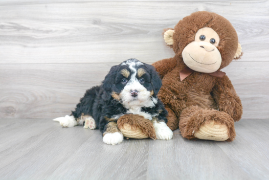
[[[213,29],[204,27],[195,35],[194,42],[186,45],[182,51],[184,63],[198,72],[217,71],[222,64],[222,56],[217,46],[220,37]]]

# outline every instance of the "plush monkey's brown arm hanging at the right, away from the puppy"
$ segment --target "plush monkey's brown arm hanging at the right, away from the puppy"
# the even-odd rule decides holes
[[[243,107],[228,76],[218,78],[212,92],[219,111],[226,112],[234,121],[239,121],[243,113]]]

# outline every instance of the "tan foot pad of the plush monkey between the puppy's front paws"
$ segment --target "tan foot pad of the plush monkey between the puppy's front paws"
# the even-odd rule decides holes
[[[120,131],[124,137],[128,138],[145,139],[149,137],[149,135],[142,133],[141,129],[139,128],[132,130],[129,124],[124,124],[123,128],[121,128]]]

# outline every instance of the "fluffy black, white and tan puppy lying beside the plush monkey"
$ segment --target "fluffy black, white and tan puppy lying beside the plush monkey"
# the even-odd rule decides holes
[[[157,139],[169,140],[173,132],[166,125],[167,111],[156,96],[160,87],[161,80],[153,66],[129,59],[113,66],[101,86],[87,90],[70,116],[53,120],[63,127],[99,128],[103,141],[114,145],[123,141],[117,119],[125,114],[138,114],[154,121]]]

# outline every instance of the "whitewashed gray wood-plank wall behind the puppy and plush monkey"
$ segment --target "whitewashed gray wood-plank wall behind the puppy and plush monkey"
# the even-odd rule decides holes
[[[201,10],[237,30],[244,56],[223,71],[241,97],[243,118],[268,118],[268,0],[1,0],[0,117],[69,114],[111,66],[173,57],[162,29]]]

